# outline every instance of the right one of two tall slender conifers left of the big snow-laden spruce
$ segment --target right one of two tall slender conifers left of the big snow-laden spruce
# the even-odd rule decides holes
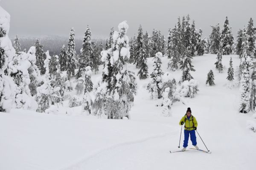
[[[84,40],[82,44],[82,48],[80,50],[81,54],[79,55],[79,68],[78,72],[76,73],[76,78],[78,79],[81,77],[82,72],[84,71],[85,67],[93,66],[93,47],[91,42],[91,31],[90,27],[86,27],[86,31],[84,33]]]

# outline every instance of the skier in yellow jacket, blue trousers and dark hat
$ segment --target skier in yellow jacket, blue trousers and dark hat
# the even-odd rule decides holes
[[[195,136],[195,130],[197,129],[197,121],[195,119],[195,116],[191,115],[191,109],[188,108],[186,111],[185,116],[183,116],[180,120],[180,125],[183,125],[185,123],[184,127],[184,141],[183,141],[183,149],[182,151],[186,150],[186,147],[188,146],[189,142],[189,134],[190,134],[190,140],[192,141],[192,145],[195,147],[195,149],[199,149],[196,145],[196,136]]]

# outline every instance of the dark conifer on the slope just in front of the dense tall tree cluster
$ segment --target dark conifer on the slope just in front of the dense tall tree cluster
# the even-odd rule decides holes
[[[182,70],[182,81],[193,79],[190,71],[195,71],[192,65],[192,56],[190,48],[188,47],[186,51],[182,55],[182,59],[180,60],[180,69]]]

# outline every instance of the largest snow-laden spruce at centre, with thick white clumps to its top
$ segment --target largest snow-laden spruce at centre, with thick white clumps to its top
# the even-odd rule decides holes
[[[129,61],[129,39],[125,35],[128,24],[123,21],[118,25],[119,32],[113,33],[113,47],[102,51],[105,62],[102,79],[98,83],[93,103],[93,113],[108,119],[129,118],[137,86],[134,74],[127,69]]]

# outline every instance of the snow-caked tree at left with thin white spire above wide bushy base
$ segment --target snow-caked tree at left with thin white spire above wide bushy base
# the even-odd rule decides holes
[[[37,112],[44,112],[51,105],[56,104],[60,101],[60,87],[53,87],[51,77],[49,74],[49,62],[51,56],[49,56],[49,51],[46,52],[46,59],[44,60],[45,80],[44,84],[37,88],[36,99],[38,101]]]

